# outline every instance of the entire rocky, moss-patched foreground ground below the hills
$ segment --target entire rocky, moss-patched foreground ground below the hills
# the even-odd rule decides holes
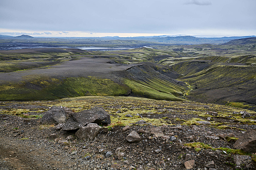
[[[114,97],[1,102],[0,127],[0,169],[256,169],[256,113],[234,107]]]

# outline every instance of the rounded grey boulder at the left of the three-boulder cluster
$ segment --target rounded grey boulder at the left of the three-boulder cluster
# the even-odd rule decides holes
[[[67,107],[52,106],[41,118],[40,122],[43,124],[64,123],[67,121],[67,117],[71,113],[73,112]]]

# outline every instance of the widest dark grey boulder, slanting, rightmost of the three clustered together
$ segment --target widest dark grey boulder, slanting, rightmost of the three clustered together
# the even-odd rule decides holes
[[[110,115],[100,107],[72,113],[67,122],[61,127],[62,130],[77,130],[89,123],[108,125],[111,123]]]

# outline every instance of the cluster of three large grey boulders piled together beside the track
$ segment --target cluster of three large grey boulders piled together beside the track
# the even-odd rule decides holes
[[[72,112],[67,107],[52,106],[42,117],[43,124],[57,124],[56,130],[76,131],[75,136],[84,141],[93,140],[101,129],[111,123],[110,115],[100,107]]]

